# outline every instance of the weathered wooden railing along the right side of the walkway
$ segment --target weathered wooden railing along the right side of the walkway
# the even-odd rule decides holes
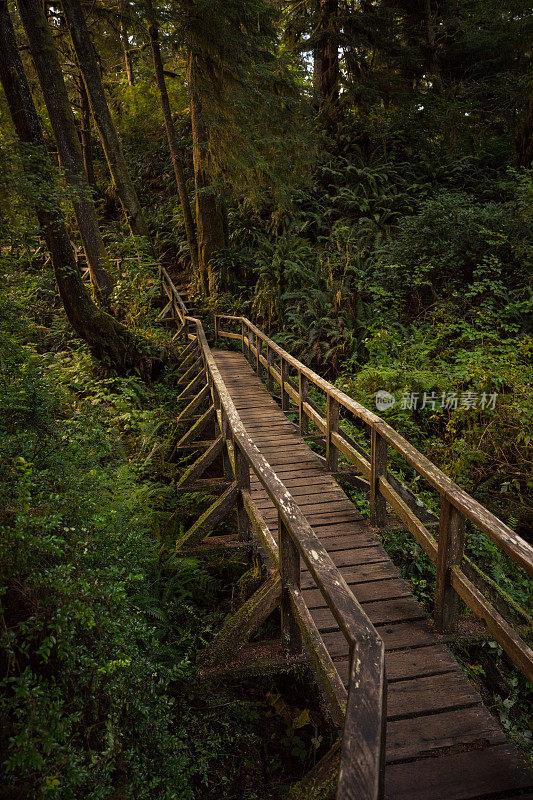
[[[222,322],[235,325],[237,331],[224,330]],[[226,325],[226,328],[228,326]],[[413,445],[388,425],[381,417],[357,403],[344,392],[321,378],[313,370],[283,350],[245,317],[215,317],[215,337],[241,342],[259,376],[264,374],[267,388],[272,392],[273,381],[280,387],[281,405],[289,410],[290,400],[299,413],[303,435],[309,431],[309,420],[324,435],[326,460],[335,472],[341,453],[369,481],[371,522],[382,527],[386,519],[386,504],[402,520],[415,540],[436,564],[435,624],[443,633],[457,630],[460,603],[464,603],[481,618],[491,635],[505,650],[513,663],[533,681],[533,651],[502,614],[494,608],[476,585],[472,571],[465,574],[465,521],[485,533],[513,559],[528,575],[533,575],[533,548],[494,514],[474,500],[442,470],[422,455]],[[277,363],[276,363],[277,361]],[[290,370],[296,380],[290,377]],[[309,398],[309,387],[325,395],[325,416]],[[370,431],[370,457],[339,427],[340,411],[347,418],[360,420]],[[438,541],[413,509],[400,496],[387,471],[387,447],[392,447],[440,495]]]

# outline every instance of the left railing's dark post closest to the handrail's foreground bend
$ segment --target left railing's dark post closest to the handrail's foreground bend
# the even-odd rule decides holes
[[[302,634],[291,604],[290,589],[300,588],[300,553],[278,513],[279,569],[281,573],[281,644],[287,655],[302,652]]]

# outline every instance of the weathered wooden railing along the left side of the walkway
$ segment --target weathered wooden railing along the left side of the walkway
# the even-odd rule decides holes
[[[161,278],[167,286],[165,291],[172,300],[178,293],[164,270]],[[251,540],[252,527],[255,530],[273,566],[273,589],[276,591],[276,587],[279,587],[281,591],[284,649],[288,655],[294,655],[302,652],[305,645],[330,701],[333,716],[344,730],[337,800],[381,800],[387,696],[385,653],[381,637],[291,494],[246,433],[211,353],[202,323],[183,312],[180,314],[179,303],[176,310],[178,318],[183,322],[182,332],[189,339],[186,360],[194,359],[197,355],[202,362],[201,373],[207,380],[204,388],[195,384],[195,378],[191,380],[190,391],[185,391],[184,394],[198,394],[188,408],[198,408],[202,393],[204,399],[205,392],[210,394],[211,409],[201,419],[205,420],[211,415],[209,418],[214,418],[219,436],[217,442],[210,447],[211,454],[208,456],[206,453],[206,458],[212,458],[221,444],[227,452],[231,466],[232,483],[215,505],[220,511],[228,505],[231,507],[230,504],[237,499],[239,538]],[[203,425],[204,422],[200,424]],[[218,452],[220,453],[220,449]],[[252,499],[251,472],[257,476],[278,510],[278,542]],[[206,512],[206,515],[201,518],[204,529],[210,512]],[[211,514],[211,523],[213,521]],[[193,526],[187,534],[189,541],[194,541],[197,534],[201,538],[200,527],[201,524],[198,527]],[[351,657],[348,692],[303,601],[300,592],[302,561],[348,643]]]

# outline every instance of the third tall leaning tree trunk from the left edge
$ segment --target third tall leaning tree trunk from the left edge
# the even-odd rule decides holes
[[[36,0],[31,1],[35,2]],[[24,0],[24,2],[28,2],[28,0]],[[93,119],[100,133],[109,171],[116,186],[128,225],[132,233],[137,236],[145,236],[150,241],[148,226],[122,154],[113,120],[111,119],[96,52],[89,36],[89,29],[87,28],[83,11],[78,0],[62,0],[62,6],[83,80],[85,81]]]

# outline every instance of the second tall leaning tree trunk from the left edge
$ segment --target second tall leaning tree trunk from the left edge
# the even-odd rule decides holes
[[[30,52],[54,131],[59,161],[69,185],[75,190],[74,213],[87,258],[89,274],[96,290],[103,296],[113,288],[105,269],[105,248],[98,228],[98,219],[83,167],[76,121],[68,98],[61,64],[39,0],[20,0],[22,24],[28,37]]]

